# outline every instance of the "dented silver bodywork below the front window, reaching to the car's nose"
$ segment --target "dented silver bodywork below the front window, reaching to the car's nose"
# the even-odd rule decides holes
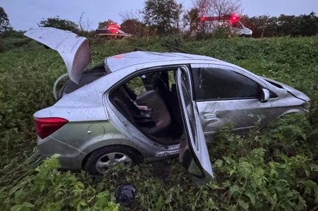
[[[292,112],[308,112],[301,105],[304,101],[298,99],[298,105],[292,97],[270,99],[261,103],[258,99],[200,101],[197,102],[200,120],[207,141],[212,141],[213,134],[225,123],[233,123],[233,131],[240,132],[254,128],[261,119],[259,127],[264,127],[270,121]],[[279,102],[277,102],[279,101]],[[234,110],[235,108],[235,110]],[[207,116],[209,114],[210,116]]]

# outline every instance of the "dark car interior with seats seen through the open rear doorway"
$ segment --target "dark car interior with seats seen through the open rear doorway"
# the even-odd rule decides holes
[[[162,145],[180,143],[184,130],[175,75],[176,70],[141,74],[110,94],[111,102],[124,117]]]

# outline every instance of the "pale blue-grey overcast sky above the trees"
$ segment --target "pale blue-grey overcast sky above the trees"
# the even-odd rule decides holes
[[[177,0],[185,8],[191,8],[194,0]],[[318,13],[318,0],[241,0],[243,13],[248,16],[269,14],[309,14]],[[91,29],[98,22],[112,19],[121,23],[120,12],[137,11],[143,7],[144,0],[0,0],[10,23],[15,30],[28,30],[37,27],[42,18],[59,15],[78,23],[84,12],[84,20],[91,23]]]

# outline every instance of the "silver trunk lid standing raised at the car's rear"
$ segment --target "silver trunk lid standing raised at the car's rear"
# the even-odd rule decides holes
[[[79,83],[82,72],[91,61],[88,39],[73,32],[49,27],[32,29],[24,35],[59,52],[66,65],[68,77]]]

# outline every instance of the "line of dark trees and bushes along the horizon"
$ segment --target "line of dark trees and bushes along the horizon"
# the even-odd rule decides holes
[[[135,13],[121,12],[121,30],[136,37],[149,35],[167,36],[169,34],[193,35],[205,31],[202,17],[226,17],[229,14],[241,14],[240,0],[196,0],[194,7],[185,10],[182,3],[176,0],[146,0],[144,8]],[[312,36],[318,34],[318,17],[315,12],[299,16],[281,14],[279,17],[261,15],[257,17],[241,16],[241,23],[253,31],[252,37],[276,36]],[[116,24],[108,19],[101,21],[98,28],[107,28]],[[94,34],[88,19],[84,21],[82,12],[79,23],[62,19],[59,16],[39,21],[40,27],[55,27],[70,30],[78,34]],[[218,26],[219,27],[219,26]],[[0,34],[12,31],[6,12],[0,7]],[[201,30],[201,31],[200,31]]]

